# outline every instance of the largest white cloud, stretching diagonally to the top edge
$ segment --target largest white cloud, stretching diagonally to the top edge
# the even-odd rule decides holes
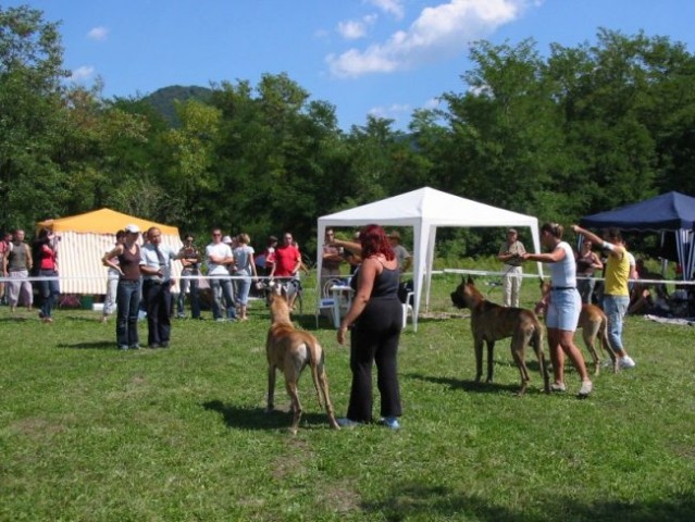
[[[364,50],[330,54],[326,62],[337,77],[393,73],[450,58],[521,15],[530,0],[449,0],[422,10],[405,30]]]

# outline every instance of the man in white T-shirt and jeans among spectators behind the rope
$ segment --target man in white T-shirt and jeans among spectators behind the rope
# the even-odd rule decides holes
[[[234,304],[234,293],[232,290],[232,279],[229,278],[229,266],[234,264],[234,254],[228,245],[222,243],[222,231],[212,229],[212,243],[206,247],[206,259],[208,260],[208,277],[210,277],[210,289],[212,290],[212,318],[223,322],[223,308],[226,309],[226,321],[236,320],[236,307]],[[220,299],[220,290],[224,298],[224,303]]]

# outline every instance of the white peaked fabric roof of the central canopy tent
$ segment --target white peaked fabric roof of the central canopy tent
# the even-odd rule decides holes
[[[536,226],[537,220],[505,209],[460,198],[431,187],[382,199],[373,203],[323,215],[326,225],[413,225],[421,221],[437,226]]]

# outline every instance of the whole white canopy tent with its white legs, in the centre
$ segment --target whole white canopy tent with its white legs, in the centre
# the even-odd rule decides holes
[[[327,227],[363,226],[371,223],[386,227],[413,227],[413,328],[415,332],[418,331],[418,313],[423,295],[425,296],[425,309],[430,307],[432,263],[438,227],[528,226],[531,228],[535,252],[541,251],[538,220],[536,217],[479,203],[431,187],[423,187],[400,196],[319,217],[317,245],[323,245]],[[318,288],[321,288],[322,257],[320,252],[321,249],[319,249],[318,256]],[[542,273],[539,263],[538,273]]]

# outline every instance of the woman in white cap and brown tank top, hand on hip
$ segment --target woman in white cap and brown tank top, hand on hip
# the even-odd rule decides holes
[[[125,239],[108,252],[101,261],[121,274],[116,290],[116,345],[120,350],[137,350],[140,339],[137,319],[140,309],[140,227],[125,227]],[[114,260],[117,258],[119,262]]]

